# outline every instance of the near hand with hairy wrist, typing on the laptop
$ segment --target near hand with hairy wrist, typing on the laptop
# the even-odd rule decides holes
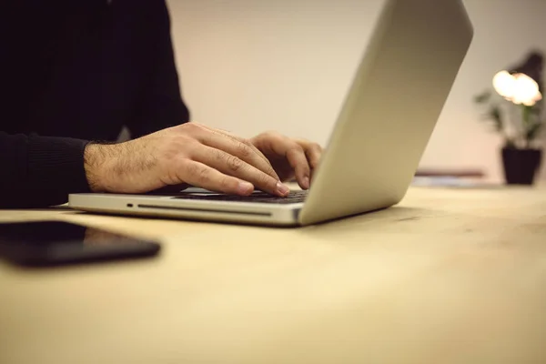
[[[90,144],[84,159],[94,192],[143,193],[182,184],[241,196],[254,187],[280,197],[289,192],[252,143],[197,123],[120,144]]]

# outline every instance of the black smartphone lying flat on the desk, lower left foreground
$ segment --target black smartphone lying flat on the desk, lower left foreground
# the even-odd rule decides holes
[[[0,223],[0,257],[22,266],[55,266],[156,256],[156,241],[63,221]]]

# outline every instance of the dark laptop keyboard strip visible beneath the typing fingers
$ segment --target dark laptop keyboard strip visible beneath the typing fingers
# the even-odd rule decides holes
[[[290,191],[288,197],[271,196],[265,192],[254,192],[250,196],[237,195],[217,195],[217,194],[195,194],[180,192],[176,197],[180,199],[207,200],[207,201],[232,201],[232,202],[252,202],[268,204],[296,204],[305,201],[308,191]]]

